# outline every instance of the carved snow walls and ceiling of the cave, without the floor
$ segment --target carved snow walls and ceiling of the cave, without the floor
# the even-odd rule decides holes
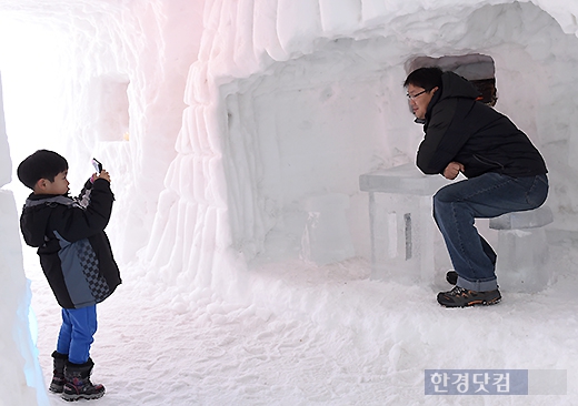
[[[8,184],[24,156],[61,152],[73,185],[91,156],[106,163],[117,199],[107,232],[149,288],[307,313],[308,300],[277,301],[289,287],[262,275],[367,265],[359,176],[415,160],[422,129],[402,82],[418,57],[494,60],[496,108],[548,164],[548,230],[574,241],[576,16],[564,0],[0,0],[0,252],[10,281],[0,314],[12,326],[0,333],[10,376],[0,385],[22,388],[7,404],[49,402],[34,344],[19,338],[31,335],[16,209],[27,192]],[[337,244],[337,257],[311,256],[306,231],[320,211],[338,213],[335,240],[319,243]]]

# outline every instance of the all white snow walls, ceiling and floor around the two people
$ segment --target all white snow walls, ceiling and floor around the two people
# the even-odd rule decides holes
[[[576,16],[566,0],[0,0],[0,405],[62,404],[46,392],[60,309],[19,246],[27,191],[7,185],[41,148],[74,192],[91,156],[112,176],[123,284],[98,306],[99,405],[578,404]],[[447,309],[445,268],[369,277],[358,179],[413,161],[406,67],[466,54],[494,60],[497,110],[546,158],[555,278]],[[303,232],[331,196],[351,243],[315,264]],[[565,369],[567,395],[426,396],[434,368]]]

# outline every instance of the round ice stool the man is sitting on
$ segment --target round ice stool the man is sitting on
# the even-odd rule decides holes
[[[490,219],[490,229],[498,231],[496,274],[500,288],[538,292],[552,278],[548,268],[548,243],[545,225],[554,221],[548,206],[512,212]]]

